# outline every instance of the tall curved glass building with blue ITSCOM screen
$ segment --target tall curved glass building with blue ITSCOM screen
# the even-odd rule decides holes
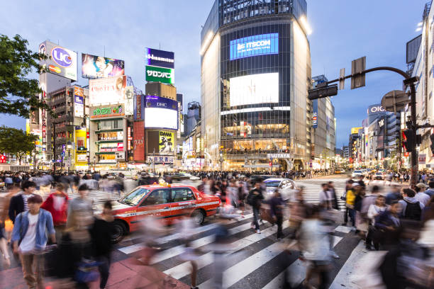
[[[275,168],[306,169],[311,154],[306,9],[305,0],[214,2],[201,31],[208,169],[266,169],[271,157]]]

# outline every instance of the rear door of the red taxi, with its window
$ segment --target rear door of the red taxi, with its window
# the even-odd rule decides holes
[[[172,188],[172,220],[189,215],[196,208],[196,196],[190,188]]]

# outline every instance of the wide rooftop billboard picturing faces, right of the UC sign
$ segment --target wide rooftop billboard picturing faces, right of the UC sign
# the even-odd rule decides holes
[[[125,74],[125,63],[123,60],[82,53],[83,78],[121,77],[123,74]]]

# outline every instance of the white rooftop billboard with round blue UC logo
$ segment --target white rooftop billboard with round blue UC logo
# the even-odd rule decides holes
[[[40,62],[48,67],[50,73],[77,81],[77,53],[65,47],[61,47],[50,41],[39,45],[39,52],[47,55],[47,60]]]

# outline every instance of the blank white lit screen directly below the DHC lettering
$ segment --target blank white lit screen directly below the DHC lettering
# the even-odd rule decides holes
[[[167,108],[145,108],[145,128],[178,129],[178,111]]]

